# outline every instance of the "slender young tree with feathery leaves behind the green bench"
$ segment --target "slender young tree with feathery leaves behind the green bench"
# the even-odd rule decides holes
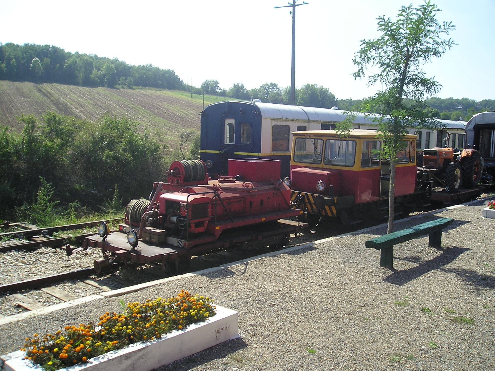
[[[445,37],[455,29],[451,22],[436,19],[441,11],[430,1],[418,7],[402,6],[395,21],[385,16],[377,18],[381,36],[361,40],[361,49],[353,59],[358,70],[354,79],[368,76],[368,85],[380,83],[383,90],[366,98],[355,110],[371,112],[378,124],[378,136],[383,139],[380,156],[390,164],[389,225],[394,228],[394,196],[397,153],[405,149],[405,134],[411,128],[436,129],[438,122],[424,112],[425,98],[434,96],[441,85],[427,78],[422,66],[439,58],[455,45]],[[371,72],[370,72],[371,71]],[[341,135],[350,130],[352,120],[338,127]]]

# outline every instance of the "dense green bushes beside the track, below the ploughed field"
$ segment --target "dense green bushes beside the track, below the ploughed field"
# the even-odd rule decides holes
[[[3,219],[38,223],[32,216],[54,215],[57,203],[60,212],[80,216],[112,202],[121,210],[122,202],[146,197],[153,182],[165,180],[172,160],[199,158],[194,131],[180,133],[180,146],[174,146],[127,118],[104,115],[89,122],[47,112],[19,120],[20,134],[0,127]],[[117,189],[122,198],[115,202]]]

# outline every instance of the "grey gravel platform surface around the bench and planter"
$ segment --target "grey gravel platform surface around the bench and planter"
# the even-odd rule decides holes
[[[0,354],[19,349],[33,332],[118,311],[121,299],[188,289],[237,310],[242,337],[161,371],[494,370],[495,220],[481,218],[484,204],[396,223],[400,230],[455,219],[442,249],[428,247],[428,236],[396,245],[392,271],[379,266],[379,251],[364,247],[385,228],[358,231],[2,325]]]

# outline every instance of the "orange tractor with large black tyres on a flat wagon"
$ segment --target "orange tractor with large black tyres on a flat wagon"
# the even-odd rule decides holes
[[[447,192],[478,186],[482,158],[475,149],[445,146],[423,149],[418,156],[418,183],[423,187],[445,187]]]

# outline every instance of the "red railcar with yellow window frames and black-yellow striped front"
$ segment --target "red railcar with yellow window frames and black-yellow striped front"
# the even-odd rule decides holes
[[[377,150],[383,140],[372,130],[351,130],[340,138],[334,130],[294,132],[291,201],[306,213],[339,217],[346,224],[374,220],[388,213],[389,163]],[[416,136],[407,134],[396,159],[397,212],[412,208],[416,192]],[[380,215],[381,214],[381,215]]]

